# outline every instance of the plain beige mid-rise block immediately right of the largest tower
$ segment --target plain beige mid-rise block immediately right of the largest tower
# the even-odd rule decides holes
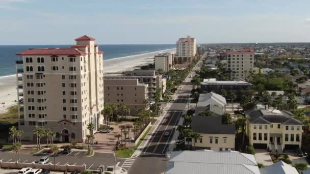
[[[148,109],[148,84],[139,83],[138,79],[104,79],[106,104],[125,104],[134,115],[141,108]]]

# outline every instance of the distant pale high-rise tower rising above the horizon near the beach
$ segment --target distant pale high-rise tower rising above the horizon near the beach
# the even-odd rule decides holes
[[[176,56],[193,57],[196,55],[196,39],[188,36],[176,41]]]

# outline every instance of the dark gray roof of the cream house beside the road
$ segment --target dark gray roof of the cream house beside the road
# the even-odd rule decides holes
[[[192,117],[192,130],[205,134],[236,134],[234,125],[222,125],[221,117]]]

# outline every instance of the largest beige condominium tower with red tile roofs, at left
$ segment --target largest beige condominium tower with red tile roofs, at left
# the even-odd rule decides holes
[[[24,140],[34,140],[35,126],[44,126],[56,132],[55,140],[81,142],[89,123],[94,132],[103,123],[104,52],[89,36],[75,41],[70,48],[17,53],[18,100],[24,108],[18,127]]]

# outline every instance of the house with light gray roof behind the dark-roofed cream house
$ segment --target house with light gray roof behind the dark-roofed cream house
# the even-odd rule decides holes
[[[225,113],[227,105],[225,97],[216,93],[199,94],[195,115],[202,111],[212,111],[217,115]]]

